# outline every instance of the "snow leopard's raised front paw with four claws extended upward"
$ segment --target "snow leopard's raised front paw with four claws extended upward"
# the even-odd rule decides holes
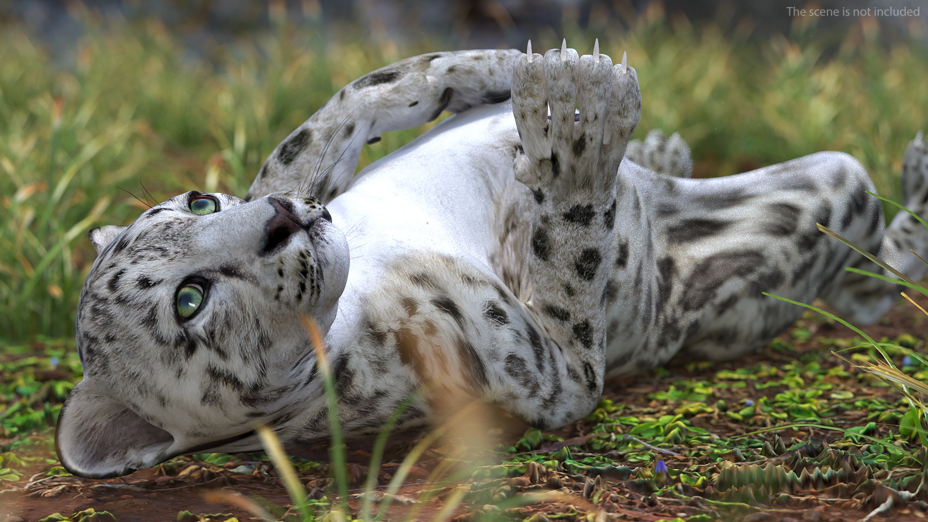
[[[579,113],[577,107],[579,106]],[[599,54],[549,50],[519,55],[513,65],[512,111],[522,138],[515,174],[555,200],[577,189],[611,192],[641,111],[638,74]],[[548,115],[548,113],[550,115]]]

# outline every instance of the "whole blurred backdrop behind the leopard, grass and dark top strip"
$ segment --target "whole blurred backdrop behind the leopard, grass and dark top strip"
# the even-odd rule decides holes
[[[343,85],[434,50],[599,38],[638,70],[636,137],[679,132],[694,176],[844,150],[899,200],[928,130],[926,20],[928,0],[0,0],[0,344],[73,335],[89,228],[243,195]]]

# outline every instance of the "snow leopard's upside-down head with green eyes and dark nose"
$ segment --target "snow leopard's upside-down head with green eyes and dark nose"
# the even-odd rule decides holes
[[[120,476],[174,455],[260,446],[314,381],[301,319],[328,331],[348,244],[315,198],[187,192],[129,227],[90,232],[81,294],[84,380],[58,420],[61,463]]]

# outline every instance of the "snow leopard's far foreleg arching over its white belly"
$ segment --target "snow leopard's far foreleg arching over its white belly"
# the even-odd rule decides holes
[[[432,53],[378,69],[329,99],[277,146],[245,201],[298,190],[323,203],[347,189],[365,143],[380,134],[509,99],[518,51],[485,49]]]

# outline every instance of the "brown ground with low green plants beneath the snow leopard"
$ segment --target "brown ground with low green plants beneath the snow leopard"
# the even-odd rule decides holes
[[[928,307],[928,298],[916,300]],[[905,302],[864,331],[921,352],[928,320]],[[499,433],[501,445],[458,455],[451,465],[443,451],[426,450],[391,497],[387,518],[433,520],[464,493],[450,514],[459,522],[529,517],[837,522],[863,518],[890,497],[892,511],[875,519],[921,520],[928,491],[908,501],[896,491],[918,489],[928,452],[911,429],[913,417],[902,396],[831,355],[855,346],[855,335],[809,312],[751,357],[716,364],[674,361],[647,375],[607,382],[599,408],[580,423],[551,432]],[[239,493],[260,499],[277,516],[296,519],[283,515],[290,500],[264,454],[181,457],[108,480],[64,475],[50,450],[50,431],[20,433],[10,413],[27,411],[23,402],[31,405],[28,411],[40,411],[39,394],[48,399],[46,415],[54,415],[56,383],[74,377],[66,371],[72,360],[67,354],[47,367],[48,354],[61,349],[53,345],[35,342],[0,356],[9,392],[6,406],[0,405],[6,437],[0,449],[7,451],[0,453],[0,521],[33,522],[55,513],[63,517],[47,520],[250,519],[239,507],[244,502]],[[857,349],[846,357],[863,360],[867,354]],[[917,360],[903,360],[897,352],[894,359],[910,375],[928,380],[928,367]],[[793,427],[758,433],[782,425]],[[421,437],[391,440],[379,470],[381,486],[390,483]],[[370,450],[370,442],[353,442],[346,451],[353,518],[359,516],[357,494]],[[290,454],[310,497],[334,497],[326,448]],[[423,492],[431,500],[416,503]],[[324,515],[329,504],[316,500],[310,507]]]

